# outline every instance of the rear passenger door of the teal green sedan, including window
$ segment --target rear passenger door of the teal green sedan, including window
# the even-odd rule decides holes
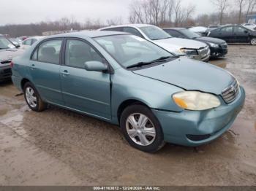
[[[53,104],[63,105],[60,82],[61,46],[63,39],[50,39],[37,46],[29,67],[39,94]]]

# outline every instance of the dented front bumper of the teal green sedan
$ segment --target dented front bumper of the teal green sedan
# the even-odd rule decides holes
[[[245,91],[240,93],[231,104],[222,104],[216,109],[207,111],[164,112],[154,110],[165,136],[165,141],[189,147],[207,144],[217,139],[233,124],[244,106]],[[188,135],[206,136],[206,139],[192,141]]]

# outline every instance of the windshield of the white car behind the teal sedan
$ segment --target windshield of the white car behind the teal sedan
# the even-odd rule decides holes
[[[151,40],[169,39],[172,37],[157,26],[144,26],[140,27],[140,30]]]

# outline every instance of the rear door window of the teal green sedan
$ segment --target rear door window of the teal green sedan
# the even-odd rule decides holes
[[[45,63],[59,63],[59,55],[61,52],[61,39],[48,40],[40,44],[38,48],[37,61]],[[34,58],[34,55],[33,55]]]

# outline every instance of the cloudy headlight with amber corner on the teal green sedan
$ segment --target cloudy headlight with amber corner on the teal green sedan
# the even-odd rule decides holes
[[[210,93],[200,93],[197,91],[184,91],[173,95],[173,101],[183,109],[206,110],[220,106],[219,98]]]

